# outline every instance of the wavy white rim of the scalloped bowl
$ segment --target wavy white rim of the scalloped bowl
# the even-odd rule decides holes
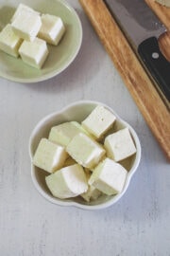
[[[110,200],[108,200],[106,202],[103,202],[101,204],[98,204],[98,205],[82,205],[82,204],[80,204],[78,202],[74,202],[74,201],[72,201],[72,202],[61,201],[60,199],[58,199],[57,197],[54,197],[53,195],[48,195],[46,192],[44,192],[42,190],[39,183],[37,182],[37,179],[35,177],[34,165],[32,164],[32,156],[33,155],[32,155],[32,152],[31,152],[31,144],[32,144],[32,141],[33,141],[34,137],[36,137],[37,132],[42,127],[42,124],[44,124],[44,122],[47,121],[48,119],[52,119],[55,116],[58,116],[58,115],[60,115],[64,112],[66,112],[67,110],[69,110],[72,107],[80,106],[80,105],[88,105],[88,104],[103,105],[104,107],[108,108],[111,111],[111,113],[113,113],[115,115],[116,119],[119,119],[123,124],[125,124],[128,127],[132,137],[134,138],[134,141],[135,141],[135,144],[136,144],[136,149],[137,149],[136,157],[135,157],[132,168],[130,169],[130,171],[128,171],[127,179],[126,179],[123,191],[116,194],[112,198],[110,198]],[[79,208],[79,209],[82,209],[82,210],[100,210],[100,209],[108,208],[111,205],[115,204],[118,200],[121,199],[121,197],[124,195],[124,193],[127,192],[127,188],[129,186],[130,180],[131,180],[132,176],[136,173],[136,171],[138,169],[138,166],[140,164],[141,155],[142,155],[142,148],[141,148],[141,143],[140,143],[139,137],[137,136],[137,133],[135,132],[133,127],[129,123],[127,123],[126,120],[121,119],[114,112],[114,110],[110,108],[110,106],[108,106],[107,104],[102,103],[100,101],[86,101],[86,100],[84,100],[84,101],[74,101],[74,102],[66,105],[65,107],[61,108],[59,111],[55,111],[55,112],[45,116],[44,118],[42,118],[37,123],[37,125],[34,127],[32,133],[29,137],[28,152],[29,152],[29,156],[30,156],[30,159],[31,159],[31,178],[32,178],[33,184],[34,184],[35,188],[37,189],[37,191],[40,192],[46,200],[50,201],[53,204],[56,204],[56,205],[59,205],[59,206],[64,206],[64,207],[73,206],[73,207],[76,207],[76,208]]]

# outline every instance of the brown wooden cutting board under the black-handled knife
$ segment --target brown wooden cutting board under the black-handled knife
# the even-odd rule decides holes
[[[154,0],[145,0],[166,27],[170,27],[170,9]],[[139,57],[129,46],[118,24],[102,0],[79,0],[88,15],[114,66],[118,69],[129,93],[136,102],[161,149],[170,160],[169,102],[161,95],[158,86],[146,73]],[[170,61],[170,32],[161,37],[161,51]]]

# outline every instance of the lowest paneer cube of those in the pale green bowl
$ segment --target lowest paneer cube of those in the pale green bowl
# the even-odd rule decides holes
[[[36,38],[33,42],[24,41],[19,48],[22,60],[33,67],[41,68],[48,56],[46,42]]]

